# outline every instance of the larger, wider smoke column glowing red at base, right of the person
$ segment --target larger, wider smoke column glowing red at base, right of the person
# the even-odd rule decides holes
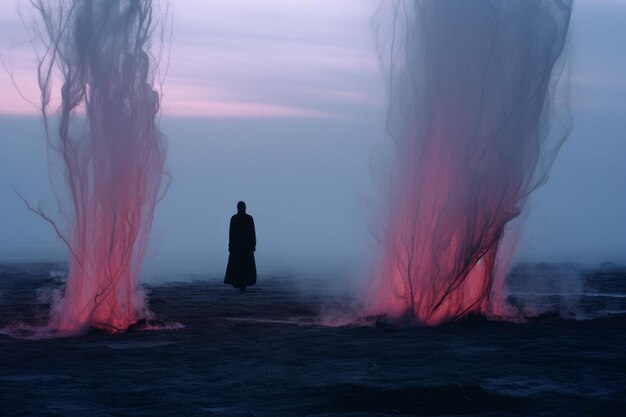
[[[369,312],[434,325],[488,311],[505,226],[565,138],[548,140],[548,124],[571,5],[425,0],[381,11],[397,157]]]

